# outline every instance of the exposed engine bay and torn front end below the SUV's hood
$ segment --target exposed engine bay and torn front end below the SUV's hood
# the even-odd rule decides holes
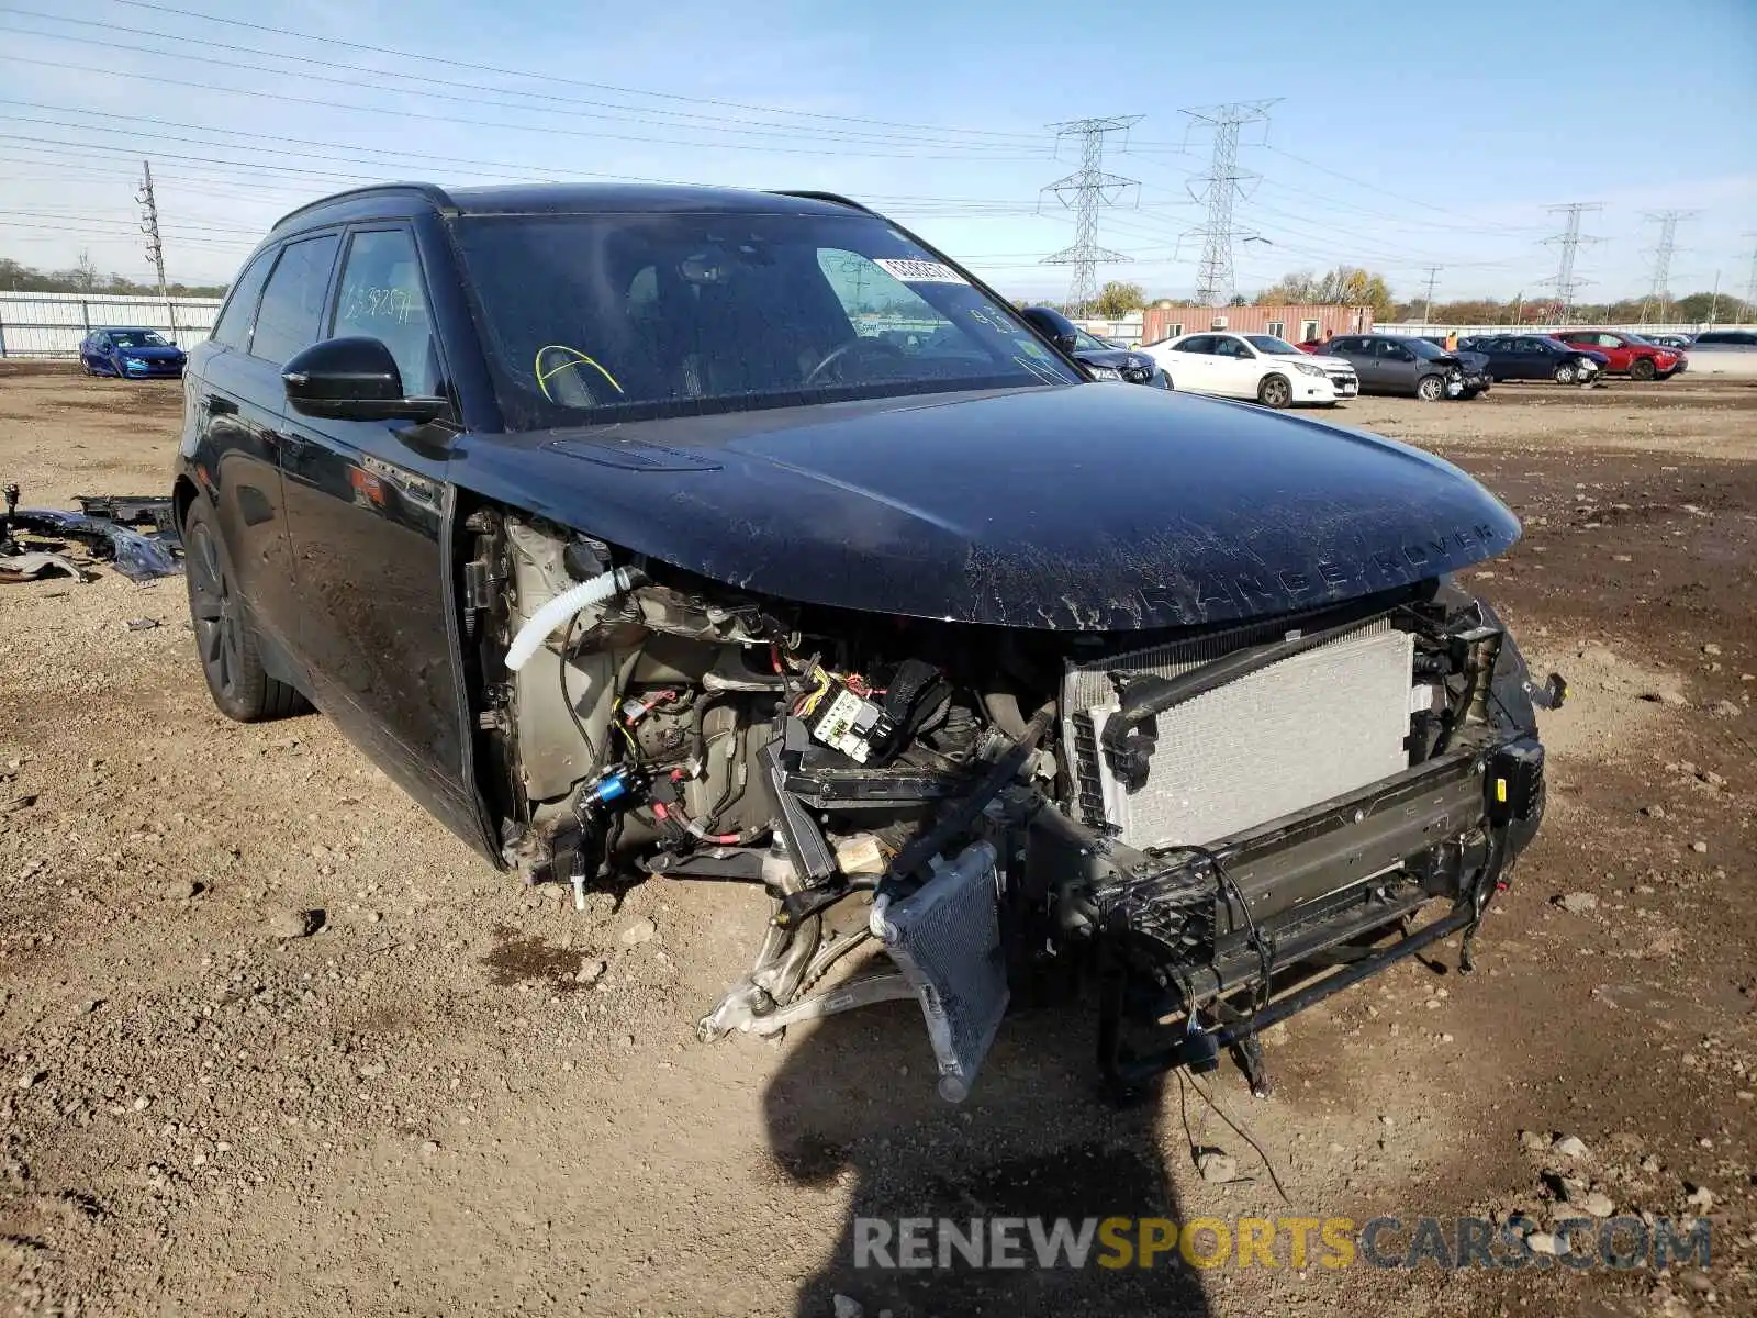
[[[961,1100],[1010,1002],[1096,988],[1117,1088],[1233,1047],[1262,1093],[1256,1030],[1453,933],[1467,968],[1543,814],[1532,706],[1562,682],[1442,580],[1031,631],[741,594],[524,515],[466,525],[504,861],[576,902],[659,873],[773,900],[703,1039],[915,998]],[[886,956],[850,975],[859,947]]]

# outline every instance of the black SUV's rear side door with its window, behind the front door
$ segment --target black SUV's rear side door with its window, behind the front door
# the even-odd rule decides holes
[[[295,239],[257,257],[237,278],[200,353],[197,376],[184,385],[195,429],[197,471],[214,499],[239,594],[276,677],[304,687],[297,664],[299,605],[279,471],[279,362],[262,355],[272,343],[279,308],[329,262],[336,239]],[[274,304],[265,290],[272,288]],[[267,323],[265,323],[267,322]]]

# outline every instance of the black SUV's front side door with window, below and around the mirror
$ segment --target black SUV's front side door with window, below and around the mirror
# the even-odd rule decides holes
[[[450,394],[429,306],[411,228],[360,225],[346,235],[334,297],[299,346],[372,337],[390,348],[404,395]],[[313,694],[390,777],[476,840],[445,568],[455,425],[325,420],[292,408],[281,425]]]

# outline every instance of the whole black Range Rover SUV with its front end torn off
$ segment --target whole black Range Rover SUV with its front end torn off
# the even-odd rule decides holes
[[[1119,1090],[1265,1088],[1254,1030],[1467,961],[1543,814],[1558,684],[1451,580],[1518,536],[1488,492],[1095,385],[840,197],[330,197],[186,395],[220,708],[315,703],[532,882],[761,886],[703,1039],[914,995],[961,1098],[1058,989]]]

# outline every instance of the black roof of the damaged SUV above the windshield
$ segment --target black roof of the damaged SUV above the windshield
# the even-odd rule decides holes
[[[864,211],[833,193],[757,192],[754,188],[696,188],[675,183],[515,183],[495,188],[439,188],[432,183],[383,183],[323,197],[276,221],[315,218],[327,209],[411,214],[441,209],[453,214],[627,214],[627,213],[745,213],[847,214]]]

